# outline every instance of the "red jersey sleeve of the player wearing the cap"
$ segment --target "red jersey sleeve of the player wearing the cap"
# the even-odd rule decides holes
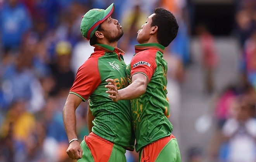
[[[78,95],[86,101],[93,91],[99,86],[101,79],[98,68],[98,58],[89,58],[78,69],[73,86],[69,93]]]

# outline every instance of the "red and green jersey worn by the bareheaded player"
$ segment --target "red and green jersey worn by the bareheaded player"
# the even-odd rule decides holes
[[[126,68],[128,80],[136,73],[147,76],[146,92],[131,100],[136,151],[160,138],[171,135],[172,124],[167,90],[167,62],[163,59],[164,46],[155,43],[135,45],[135,55]]]

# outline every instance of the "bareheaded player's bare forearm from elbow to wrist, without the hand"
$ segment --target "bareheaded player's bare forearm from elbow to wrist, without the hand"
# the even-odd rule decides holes
[[[141,80],[133,81],[124,89],[118,90],[119,100],[133,100],[146,92],[147,83]]]

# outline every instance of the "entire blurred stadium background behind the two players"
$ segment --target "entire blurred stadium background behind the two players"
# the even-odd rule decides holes
[[[155,7],[178,20],[164,58],[182,162],[255,162],[255,0],[0,0],[0,162],[72,161],[62,109],[93,52],[81,36],[81,18],[112,2],[127,64]],[[88,135],[86,113],[81,103],[80,142]],[[126,157],[138,161],[136,152]]]

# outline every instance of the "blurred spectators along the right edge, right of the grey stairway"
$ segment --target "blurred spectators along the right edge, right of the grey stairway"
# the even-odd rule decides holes
[[[256,161],[256,2],[237,0],[233,34],[238,40],[239,77],[217,93],[216,127],[209,158],[220,162]],[[202,152],[201,152],[202,153]]]

